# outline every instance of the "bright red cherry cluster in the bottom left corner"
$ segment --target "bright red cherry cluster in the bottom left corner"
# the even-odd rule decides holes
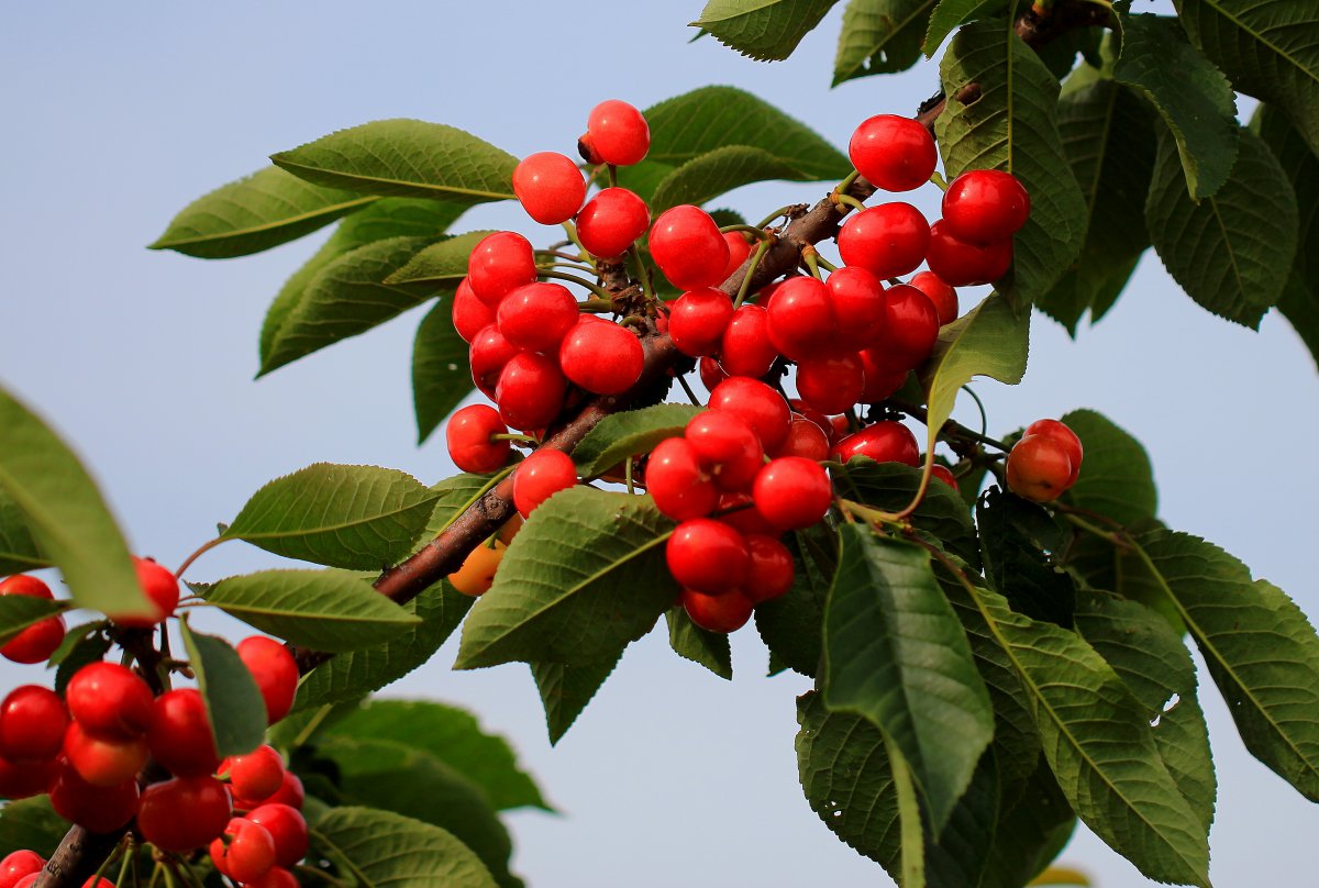
[[[119,628],[152,628],[173,615],[178,581],[153,561],[135,563],[156,614],[111,619]],[[30,575],[4,581],[0,595],[53,598]],[[9,645],[7,656],[20,662],[50,657],[63,637],[62,623],[44,628],[50,620],[20,633],[9,643],[18,645],[17,656]],[[297,693],[291,654],[273,639],[253,636],[239,643],[237,656],[261,693],[268,723],[278,722]],[[16,687],[0,702],[0,797],[42,793],[61,817],[91,833],[129,827],[160,852],[207,848],[215,868],[235,883],[298,884],[289,868],[307,851],[302,782],[269,745],[222,761],[195,689],[157,695],[138,672],[104,661],[79,668],[63,695],[40,685]],[[28,888],[44,866],[32,851],[9,855],[0,862],[0,888]]]

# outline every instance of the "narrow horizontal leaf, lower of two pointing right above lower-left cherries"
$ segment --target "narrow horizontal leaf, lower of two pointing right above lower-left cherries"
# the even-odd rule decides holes
[[[421,623],[343,570],[262,570],[199,594],[262,632],[334,653],[375,647]]]

